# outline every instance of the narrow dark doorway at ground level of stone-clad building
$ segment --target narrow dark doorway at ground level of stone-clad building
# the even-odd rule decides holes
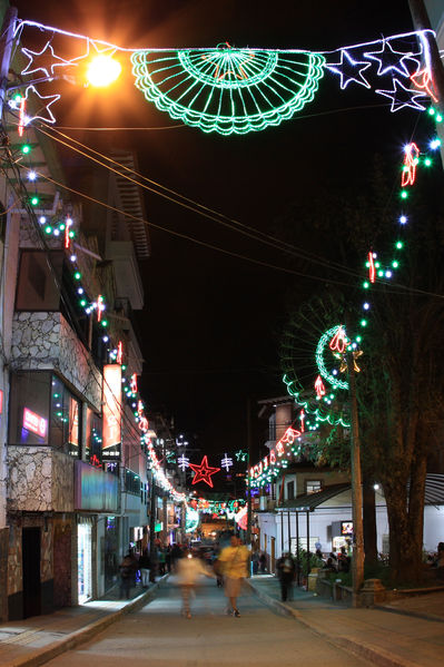
[[[22,529],[23,618],[41,614],[40,528]]]

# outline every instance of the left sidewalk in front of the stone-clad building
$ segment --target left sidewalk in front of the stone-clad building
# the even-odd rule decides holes
[[[1,667],[37,667],[92,639],[125,614],[144,607],[166,578],[161,577],[147,590],[137,587],[129,600],[119,600],[111,594],[107,600],[92,600],[46,616],[1,624]]]

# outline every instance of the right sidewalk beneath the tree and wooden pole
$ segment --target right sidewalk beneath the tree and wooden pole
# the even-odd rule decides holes
[[[273,576],[254,576],[248,585],[276,610],[375,665],[436,667],[442,663],[444,591],[397,600],[387,608],[352,609],[303,589],[294,589],[293,601],[282,602]]]

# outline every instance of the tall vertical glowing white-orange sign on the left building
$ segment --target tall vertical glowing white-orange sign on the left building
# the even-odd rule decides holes
[[[121,444],[121,366],[103,366],[102,459],[120,458]]]

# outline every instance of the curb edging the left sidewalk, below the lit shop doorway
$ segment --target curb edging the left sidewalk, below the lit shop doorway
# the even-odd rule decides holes
[[[140,594],[137,598],[131,600],[128,605],[118,609],[117,611],[112,611],[108,614],[103,618],[99,618],[93,622],[85,626],[80,630],[76,630],[71,632],[66,638],[60,641],[53,641],[49,644],[42,649],[37,649],[33,653],[21,656],[20,658],[13,658],[8,663],[2,663],[2,667],[39,667],[40,665],[45,665],[52,658],[56,658],[60,654],[63,654],[72,648],[76,648],[80,644],[85,644],[92,639],[98,632],[102,632],[109,626],[111,626],[117,620],[120,620],[127,614],[131,614],[132,611],[138,611],[141,607],[145,607],[148,602],[150,602],[150,598],[154,597],[152,594],[159,588],[159,586],[168,578],[168,575],[164,575],[156,583],[149,588],[149,590]]]

